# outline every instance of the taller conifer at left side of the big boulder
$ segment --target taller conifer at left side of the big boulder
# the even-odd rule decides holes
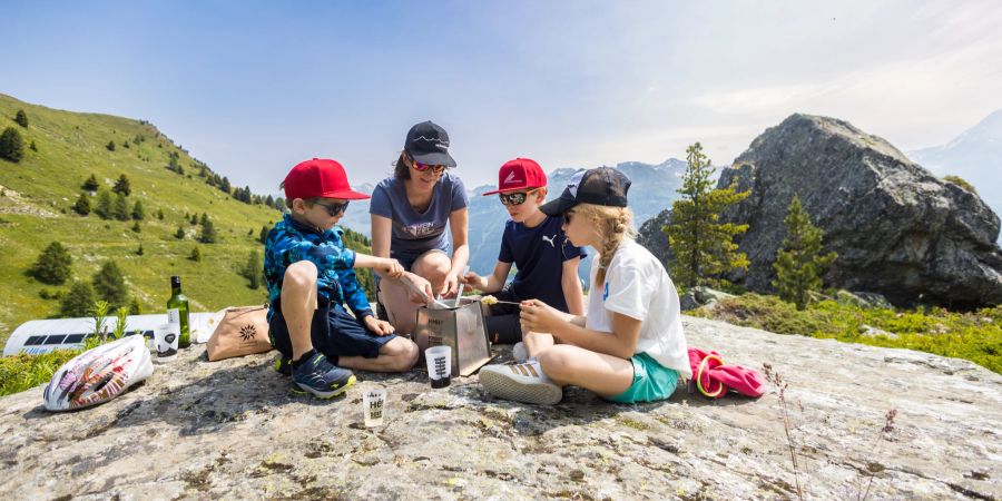
[[[726,286],[727,281],[719,275],[748,267],[748,258],[737,252],[733,242],[736,235],[748,229],[748,225],[721,224],[720,212],[750,193],[735,193],[734,185],[714,188],[715,169],[699,143],[686,149],[686,159],[688,167],[678,189],[681,197],[671,205],[671,224],[661,228],[675,253],[670,264],[671,278],[684,287]]]

